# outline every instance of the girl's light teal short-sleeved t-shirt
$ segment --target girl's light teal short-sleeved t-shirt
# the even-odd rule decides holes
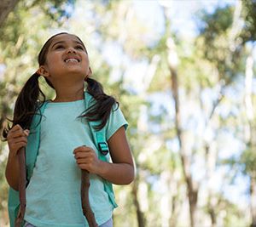
[[[86,145],[97,155],[99,151],[88,122],[78,117],[84,110],[84,99],[49,102],[45,107],[37,162],[26,188],[25,220],[35,226],[88,226],[80,199],[81,170],[73,150]],[[127,127],[122,112],[113,109],[105,126],[107,140],[122,126]],[[113,204],[104,191],[102,178],[96,174],[90,174],[89,199],[97,224],[108,221]]]

